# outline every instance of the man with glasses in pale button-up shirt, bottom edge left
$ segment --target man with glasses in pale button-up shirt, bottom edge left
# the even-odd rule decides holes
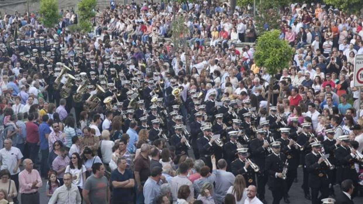
[[[78,187],[72,185],[72,174],[65,173],[63,175],[64,184],[58,187],[54,191],[52,197],[48,201],[48,204],[81,204],[81,194],[79,193]]]

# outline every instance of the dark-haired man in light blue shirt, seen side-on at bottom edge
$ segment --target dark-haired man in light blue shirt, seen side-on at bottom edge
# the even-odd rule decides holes
[[[160,186],[163,183],[167,183],[164,176],[162,176],[163,169],[156,166],[151,169],[150,177],[146,180],[145,185],[143,187],[144,194],[144,203],[152,204],[156,197],[159,196]],[[160,182],[162,180],[162,182]]]

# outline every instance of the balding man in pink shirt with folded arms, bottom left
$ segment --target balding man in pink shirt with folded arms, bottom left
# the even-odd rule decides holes
[[[33,169],[34,163],[31,159],[24,159],[25,169],[19,173],[21,203],[39,204],[38,188],[42,187],[42,179],[39,172]]]

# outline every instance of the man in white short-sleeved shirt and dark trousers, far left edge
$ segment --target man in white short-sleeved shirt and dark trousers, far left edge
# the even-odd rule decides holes
[[[7,169],[10,172],[10,178],[15,182],[16,190],[19,191],[19,172],[20,163],[23,154],[20,149],[12,146],[12,140],[4,140],[4,148],[0,150],[1,170]]]

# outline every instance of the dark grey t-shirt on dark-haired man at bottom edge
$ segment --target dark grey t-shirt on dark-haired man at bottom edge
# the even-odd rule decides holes
[[[93,175],[86,179],[85,190],[89,190],[88,196],[92,204],[107,204],[107,178],[96,178]]]

